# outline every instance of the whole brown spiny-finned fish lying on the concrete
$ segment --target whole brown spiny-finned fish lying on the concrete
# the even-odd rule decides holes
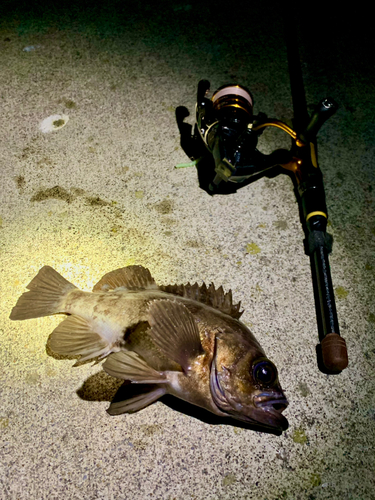
[[[277,368],[240,321],[231,290],[157,285],[140,265],[105,274],[92,292],[44,266],[26,288],[11,320],[66,314],[50,335],[51,350],[78,358],[74,366],[104,360],[104,371],[124,380],[129,391],[114,398],[110,415],[169,394],[266,432],[288,428]]]

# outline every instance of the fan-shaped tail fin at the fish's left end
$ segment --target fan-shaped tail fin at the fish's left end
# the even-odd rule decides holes
[[[26,287],[13,307],[9,318],[23,320],[49,316],[63,312],[62,302],[66,294],[76,288],[50,266],[44,266]]]

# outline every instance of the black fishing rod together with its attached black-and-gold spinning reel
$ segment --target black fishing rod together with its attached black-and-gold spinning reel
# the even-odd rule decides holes
[[[253,114],[253,96],[244,86],[224,85],[212,96],[208,80],[198,84],[196,124],[184,122],[186,108],[176,110],[181,146],[196,165],[200,187],[211,195],[229,194],[254,182],[267,172],[287,173],[293,180],[305,231],[305,250],[310,257],[320,344],[318,366],[325,373],[340,373],[348,365],[345,340],[340,336],[328,255],[333,238],[327,233],[328,212],[323,175],[317,160],[316,136],[337,110],[336,102],[322,99],[313,114],[307,112],[298,47],[288,40],[287,51],[294,108],[293,128]],[[290,150],[271,154],[257,149],[259,136],[267,127],[277,127],[292,139]]]

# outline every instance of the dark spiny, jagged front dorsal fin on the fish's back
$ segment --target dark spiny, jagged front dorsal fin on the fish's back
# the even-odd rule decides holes
[[[188,283],[187,285],[159,286],[159,288],[164,292],[186,297],[214,307],[235,319],[239,319],[243,313],[243,311],[240,311],[241,302],[233,304],[232,290],[224,293],[222,286],[215,290],[213,283],[208,288],[204,283],[201,286],[198,283],[194,283],[194,285]]]

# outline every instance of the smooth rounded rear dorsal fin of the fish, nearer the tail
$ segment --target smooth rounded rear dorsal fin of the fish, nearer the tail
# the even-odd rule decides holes
[[[120,287],[128,290],[159,288],[148,269],[143,266],[127,266],[105,274],[94,286],[93,292],[108,292]]]

